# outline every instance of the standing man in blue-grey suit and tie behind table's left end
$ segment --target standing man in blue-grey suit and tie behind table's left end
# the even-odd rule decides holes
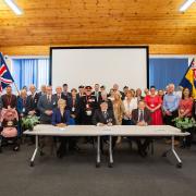
[[[46,95],[41,96],[37,103],[40,112],[40,122],[42,124],[51,123],[52,110],[57,107],[57,97],[52,95],[52,87],[47,86]]]

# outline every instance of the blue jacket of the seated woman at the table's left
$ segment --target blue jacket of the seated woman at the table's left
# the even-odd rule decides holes
[[[70,111],[64,110],[64,113],[62,117],[59,108],[53,109],[51,123],[53,125],[59,124],[59,123],[70,124]]]

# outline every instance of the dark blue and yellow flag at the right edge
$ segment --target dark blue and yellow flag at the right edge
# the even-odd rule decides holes
[[[182,78],[180,86],[186,87],[192,90],[192,96],[196,99],[196,62],[195,59],[192,60],[184,77]]]

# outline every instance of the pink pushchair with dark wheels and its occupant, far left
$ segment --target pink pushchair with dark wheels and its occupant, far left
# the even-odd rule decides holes
[[[19,115],[14,108],[3,108],[1,111],[1,131],[0,131],[0,151],[3,142],[12,142],[13,150],[17,151],[20,149],[20,144],[17,139],[17,122]]]

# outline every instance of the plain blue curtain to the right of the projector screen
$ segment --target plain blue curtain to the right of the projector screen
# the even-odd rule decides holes
[[[149,86],[164,89],[169,83],[179,86],[188,68],[188,58],[150,58],[149,59]]]

